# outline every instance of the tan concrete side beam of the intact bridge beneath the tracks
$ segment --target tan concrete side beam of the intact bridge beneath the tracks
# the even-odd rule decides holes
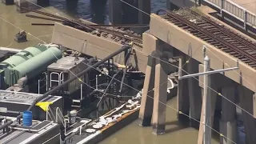
[[[206,53],[211,58],[211,68],[213,70],[223,69],[223,66],[225,66],[224,68],[236,66],[237,60],[229,54],[222,52],[222,50],[218,50],[214,46],[202,41],[200,38],[194,37],[189,32],[182,30],[156,14],[151,14],[150,16],[150,34],[161,39],[163,42],[170,44],[170,46],[174,46],[184,54],[193,54],[192,58],[201,63],[203,63],[202,46],[207,46],[208,50],[206,50]],[[201,50],[197,50],[198,47],[201,47]],[[190,52],[189,49],[191,49],[192,52]],[[228,66],[226,66],[226,64]],[[240,76],[240,74],[242,76]],[[240,70],[226,72],[225,76],[234,80],[234,82],[238,82],[242,86],[255,91],[255,74],[256,70],[241,62]]]

